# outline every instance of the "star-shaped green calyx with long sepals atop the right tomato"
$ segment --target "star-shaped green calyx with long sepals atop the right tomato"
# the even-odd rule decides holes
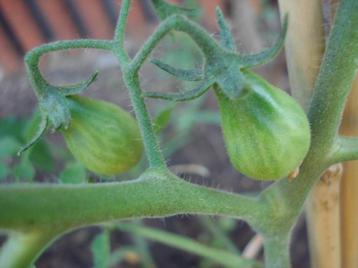
[[[200,84],[189,91],[178,93],[146,92],[142,94],[143,97],[188,101],[203,95],[211,86],[216,84],[230,100],[236,101],[248,88],[242,70],[266,63],[281,50],[287,32],[287,15],[283,19],[281,34],[275,44],[257,54],[240,55],[236,52],[234,39],[219,8],[216,9],[216,14],[221,42],[210,53],[203,50],[206,61],[202,69],[183,70],[156,59],[150,60],[171,75],[188,81],[201,81]]]

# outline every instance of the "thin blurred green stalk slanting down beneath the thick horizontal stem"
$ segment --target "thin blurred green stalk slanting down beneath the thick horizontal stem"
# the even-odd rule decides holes
[[[123,231],[132,232],[135,234],[143,235],[147,238],[166,243],[167,245],[179,248],[185,251],[189,251],[195,254],[198,254],[203,257],[210,258],[217,263],[223,264],[226,267],[232,268],[262,268],[262,263],[249,260],[227,251],[220,249],[210,248],[198,243],[191,238],[187,238],[181,235],[168,233],[161,230],[155,230],[153,228],[138,226],[138,225],[128,225],[124,223],[118,224],[119,228]]]

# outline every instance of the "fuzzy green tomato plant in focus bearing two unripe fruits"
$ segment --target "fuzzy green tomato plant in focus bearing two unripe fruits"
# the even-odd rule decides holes
[[[120,63],[149,167],[138,179],[125,182],[2,185],[0,229],[9,233],[0,252],[2,267],[32,265],[43,249],[61,234],[85,225],[112,221],[108,228],[115,224],[129,232],[152,236],[228,267],[288,268],[290,236],[309,191],[329,166],[358,159],[357,138],[338,134],[345,102],[358,69],[357,1],[340,2],[310,104],[305,107],[307,115],[292,98],[249,70],[278,53],[287,31],[287,16],[283,16],[281,35],[274,45],[261,53],[241,55],[236,51],[219,9],[220,43],[185,16],[190,10],[164,0],[152,0],[152,3],[163,21],[132,59],[123,45],[129,0],[122,3],[113,40],[60,41],[41,45],[26,55],[25,63],[39,99],[42,123],[21,151],[35,144],[51,124],[54,131],[62,130],[74,155],[97,172],[107,173],[108,165],[111,166],[109,174],[123,171],[138,161],[141,145],[133,139],[139,137],[133,120],[111,105],[73,96],[93,83],[97,72],[82,83],[58,87],[48,83],[39,70],[39,58],[43,54],[69,48],[97,48],[113,53]],[[139,70],[160,40],[171,31],[184,32],[197,44],[205,58],[203,66],[182,70],[158,60],[151,61],[178,78],[199,81],[198,86],[180,93],[144,92]],[[189,101],[199,98],[211,87],[218,96],[223,136],[233,164],[253,178],[276,180],[258,196],[199,186],[177,177],[167,167],[145,97]],[[105,140],[99,140],[98,128],[105,131],[110,126],[103,121],[108,119],[117,124],[117,119],[124,117],[126,134],[122,136],[121,128],[116,128],[116,131],[106,132]],[[72,135],[75,137],[72,131],[82,127],[83,136],[72,138]],[[80,142],[82,137],[85,143]],[[95,149],[91,148],[95,143],[92,137],[98,137]],[[127,141],[129,143],[124,144]],[[99,150],[100,147],[105,152]],[[130,150],[135,156],[129,156]],[[107,155],[112,152],[113,155]],[[121,160],[117,160],[117,153]],[[131,159],[126,159],[129,157]],[[294,180],[284,177],[301,161]],[[225,215],[246,221],[262,235],[265,262],[227,251],[218,254],[224,257],[218,257],[213,249],[200,247],[185,238],[113,223],[114,220],[180,213]],[[108,242],[106,232],[95,239],[93,248],[103,241]],[[103,252],[108,254],[108,248]]]

